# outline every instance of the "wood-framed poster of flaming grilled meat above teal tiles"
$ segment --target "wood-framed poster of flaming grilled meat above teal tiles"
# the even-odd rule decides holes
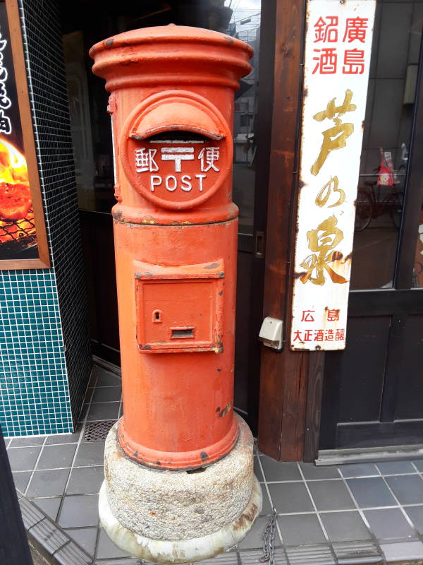
[[[0,1],[0,268],[49,266],[18,2]]]

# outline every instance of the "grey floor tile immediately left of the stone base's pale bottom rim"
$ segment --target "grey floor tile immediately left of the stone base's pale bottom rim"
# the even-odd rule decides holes
[[[99,497],[97,494],[65,496],[59,514],[61,528],[88,528],[99,523]]]

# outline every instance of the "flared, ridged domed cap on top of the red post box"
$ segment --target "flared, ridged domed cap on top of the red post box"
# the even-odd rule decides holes
[[[230,35],[174,24],[124,32],[90,49],[92,71],[106,79],[109,92],[172,82],[237,90],[251,71],[252,53]]]

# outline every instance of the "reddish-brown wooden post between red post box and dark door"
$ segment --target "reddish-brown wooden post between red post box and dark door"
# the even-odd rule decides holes
[[[306,0],[276,0],[274,87],[262,315],[289,335]],[[257,336],[256,336],[257,339]],[[276,460],[310,460],[317,449],[324,354],[261,350],[259,448]],[[309,386],[310,384],[310,386]],[[306,429],[309,431],[306,434]]]

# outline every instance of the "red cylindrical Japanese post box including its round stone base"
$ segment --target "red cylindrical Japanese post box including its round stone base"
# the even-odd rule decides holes
[[[154,553],[152,540],[180,544],[232,528],[236,542],[261,504],[250,430],[233,413],[238,208],[231,198],[231,127],[233,92],[250,72],[252,49],[221,33],[168,25],[111,37],[90,54],[94,73],[106,78],[111,93],[124,410],[109,434],[100,497],[107,509],[100,505],[100,514],[118,545],[115,530],[126,528],[147,540],[148,551],[137,553],[132,544],[130,552],[157,561],[165,559],[164,550]],[[145,509],[140,511],[145,493],[132,518],[116,494],[125,491],[128,498],[130,487],[121,484],[128,472],[143,475],[143,484],[167,477],[167,485],[175,481],[173,494],[188,492],[195,504],[198,489],[205,492],[201,482],[221,475],[231,456],[243,460],[236,463],[243,487],[229,504],[226,524],[210,520],[201,528],[204,516],[197,524],[185,516],[185,525],[191,521],[187,531],[180,524],[178,533],[177,523],[172,531],[159,526],[165,516],[180,513],[176,496],[168,508],[155,507],[149,515],[154,525],[146,530]],[[123,460],[135,467],[123,470]],[[235,469],[232,480],[238,475]],[[186,484],[186,477],[197,479]],[[136,506],[137,492],[133,499]],[[231,524],[245,510],[247,528],[237,530]],[[113,528],[110,515],[118,521]],[[219,543],[217,551],[207,546],[197,554],[185,543],[180,557],[179,545],[166,559],[204,559],[229,541]]]

